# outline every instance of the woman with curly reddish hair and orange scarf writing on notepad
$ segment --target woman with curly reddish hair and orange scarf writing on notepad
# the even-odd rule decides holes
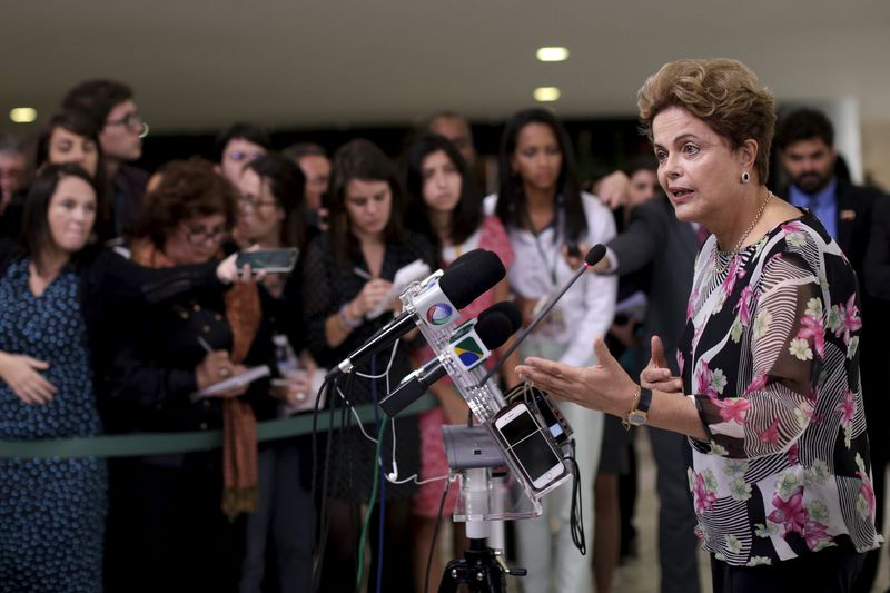
[[[235,224],[236,188],[209,161],[166,168],[132,259],[150,268],[216,258]],[[222,429],[224,447],[116,461],[111,468],[109,590],[237,591],[241,516],[256,506],[257,436],[269,382],[206,391],[250,367],[275,367],[255,283],[167,307],[129,310],[110,369],[113,432]]]

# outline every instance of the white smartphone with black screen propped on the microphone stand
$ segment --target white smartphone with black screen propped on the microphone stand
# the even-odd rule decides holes
[[[494,426],[536,490],[545,488],[565,473],[562,457],[544,436],[525,403],[517,402],[502,412]]]

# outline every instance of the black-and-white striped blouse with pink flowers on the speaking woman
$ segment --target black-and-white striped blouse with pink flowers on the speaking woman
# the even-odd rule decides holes
[[[702,247],[680,342],[696,535],[719,560],[774,564],[877,547],[859,379],[856,275],[810,213],[736,256]]]

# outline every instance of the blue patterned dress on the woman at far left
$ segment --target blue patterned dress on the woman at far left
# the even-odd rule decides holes
[[[29,405],[0,380],[0,439],[100,434],[78,276],[66,268],[34,297],[28,264],[0,278],[0,350],[48,362],[57,391]],[[0,593],[101,591],[107,506],[103,459],[0,458]]]

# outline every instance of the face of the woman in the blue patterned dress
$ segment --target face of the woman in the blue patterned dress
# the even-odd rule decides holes
[[[83,179],[59,179],[47,207],[47,224],[53,246],[67,254],[87,245],[96,221],[96,191]]]

